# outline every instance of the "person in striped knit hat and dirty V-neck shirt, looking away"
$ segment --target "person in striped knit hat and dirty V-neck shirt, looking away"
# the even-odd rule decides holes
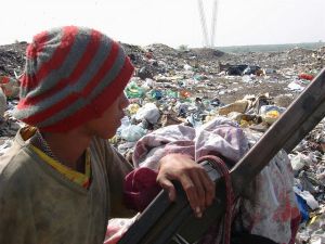
[[[123,179],[133,168],[108,143],[129,104],[133,66],[118,42],[84,27],[35,36],[14,115],[28,126],[0,157],[0,243],[101,244],[112,217],[130,217]],[[158,183],[182,183],[196,216],[214,184],[191,157],[159,162]]]

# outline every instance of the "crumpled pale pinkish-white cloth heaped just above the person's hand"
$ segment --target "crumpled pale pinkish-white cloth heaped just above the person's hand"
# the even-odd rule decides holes
[[[218,117],[200,128],[172,125],[144,136],[135,144],[133,164],[157,169],[159,159],[170,153],[187,154],[195,160],[212,154],[235,163],[247,151],[247,139],[237,124]]]

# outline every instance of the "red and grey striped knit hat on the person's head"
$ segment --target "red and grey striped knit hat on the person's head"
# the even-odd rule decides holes
[[[134,67],[102,33],[76,26],[43,31],[26,50],[14,116],[43,131],[68,131],[99,117],[120,95]]]

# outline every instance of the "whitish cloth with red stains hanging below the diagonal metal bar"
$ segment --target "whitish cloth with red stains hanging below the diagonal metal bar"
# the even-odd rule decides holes
[[[245,134],[250,145],[261,136],[251,130]],[[234,226],[276,243],[294,244],[300,218],[290,159],[285,151],[280,151],[242,195]]]

